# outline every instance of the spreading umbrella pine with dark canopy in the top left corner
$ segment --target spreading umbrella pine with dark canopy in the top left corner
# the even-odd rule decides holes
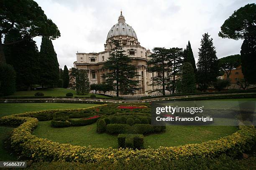
[[[22,35],[20,40],[5,43],[0,41],[0,62],[6,62],[3,51],[5,46],[36,36],[49,36],[52,40],[60,37],[57,26],[46,17],[42,8],[33,0],[1,0],[0,16],[1,38],[14,28]]]

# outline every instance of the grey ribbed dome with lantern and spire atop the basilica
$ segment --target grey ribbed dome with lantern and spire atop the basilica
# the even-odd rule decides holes
[[[130,25],[125,23],[125,18],[122,15],[122,11],[118,18],[118,23],[115,24],[109,30],[107,40],[111,37],[118,36],[118,35],[125,35],[125,36],[129,36],[129,37],[133,37],[136,40],[138,40],[137,35],[136,35],[135,31],[133,30],[133,28]]]

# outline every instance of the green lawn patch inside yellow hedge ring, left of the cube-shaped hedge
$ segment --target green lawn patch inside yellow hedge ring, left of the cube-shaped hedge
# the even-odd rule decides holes
[[[96,133],[96,123],[69,128],[51,128],[51,121],[39,122],[33,135],[59,143],[89,146],[94,148],[117,148],[117,136]]]

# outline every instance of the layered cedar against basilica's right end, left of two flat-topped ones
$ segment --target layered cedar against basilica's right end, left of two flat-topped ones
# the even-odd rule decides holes
[[[166,88],[166,78],[167,78],[167,72],[170,72],[169,67],[169,52],[170,50],[164,48],[164,47],[154,47],[152,50],[152,54],[149,57],[148,60],[148,72],[152,72],[151,77],[151,86],[161,86],[161,89],[154,89],[154,91],[162,92],[163,95],[165,95],[165,88]],[[155,73],[155,74],[154,74]]]

